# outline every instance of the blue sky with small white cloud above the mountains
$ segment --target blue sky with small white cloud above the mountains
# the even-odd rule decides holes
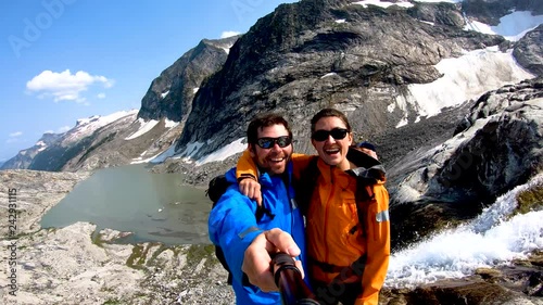
[[[279,0],[0,1],[0,162],[78,118],[139,109],[203,39],[245,33]]]

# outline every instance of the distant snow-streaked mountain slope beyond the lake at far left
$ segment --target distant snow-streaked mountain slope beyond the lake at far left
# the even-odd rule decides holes
[[[137,110],[78,119],[60,135],[46,134],[31,149],[21,151],[2,169],[75,171],[144,161],[160,155],[179,135],[177,123],[137,118]],[[144,131],[144,132],[142,132]]]

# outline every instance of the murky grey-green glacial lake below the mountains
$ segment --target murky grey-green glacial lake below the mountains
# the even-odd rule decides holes
[[[181,186],[180,174],[152,174],[146,165],[104,168],[79,182],[42,217],[42,228],[88,221],[132,234],[122,242],[209,244],[205,190]]]

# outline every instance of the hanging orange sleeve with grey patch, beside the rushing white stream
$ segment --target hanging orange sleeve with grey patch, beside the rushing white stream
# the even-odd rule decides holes
[[[377,305],[390,258],[389,193],[382,182],[374,186],[366,216],[367,260],[362,278],[362,295],[356,305]]]

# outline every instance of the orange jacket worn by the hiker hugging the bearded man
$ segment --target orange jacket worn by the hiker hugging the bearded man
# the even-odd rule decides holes
[[[308,166],[312,156],[293,154],[294,178],[301,179],[303,170]],[[366,255],[366,264],[362,277],[362,294],[356,305],[377,305],[390,257],[390,221],[389,194],[384,180],[378,180],[372,186],[374,200],[368,200],[365,213],[364,229],[356,227],[355,189],[356,178],[345,171],[329,166],[318,160],[320,175],[318,186],[313,192],[306,215],[306,234],[308,257],[338,267],[350,266],[362,255]],[[254,165],[248,151],[238,162],[237,176],[253,175]],[[318,190],[318,196],[317,191]],[[325,272],[315,264],[310,263],[313,280],[331,282],[339,272]]]

